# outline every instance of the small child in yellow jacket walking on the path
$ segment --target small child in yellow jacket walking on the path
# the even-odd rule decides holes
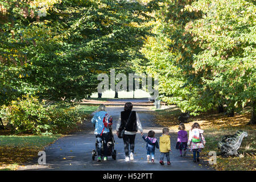
[[[171,151],[171,140],[170,140],[170,136],[169,136],[169,129],[168,127],[164,127],[163,128],[163,135],[160,137],[159,139],[159,143],[160,143],[160,164],[164,165],[163,159],[164,159],[164,155],[166,156],[167,159],[167,164],[170,165],[170,151]]]

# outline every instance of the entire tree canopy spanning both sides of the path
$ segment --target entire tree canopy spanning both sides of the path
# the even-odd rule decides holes
[[[158,76],[160,99],[183,112],[253,115],[255,13],[251,0],[1,1],[0,105],[81,100],[115,68]]]

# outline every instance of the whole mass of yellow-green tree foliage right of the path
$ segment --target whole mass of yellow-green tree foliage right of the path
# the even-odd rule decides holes
[[[228,5],[228,6],[227,6]],[[160,98],[198,114],[240,111],[256,98],[255,12],[250,1],[162,1],[141,52]]]

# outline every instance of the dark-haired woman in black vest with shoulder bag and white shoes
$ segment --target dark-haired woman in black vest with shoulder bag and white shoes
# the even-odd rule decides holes
[[[125,145],[125,161],[133,160],[134,156],[134,143],[135,135],[137,131],[141,131],[143,135],[143,130],[141,126],[141,121],[139,121],[139,116],[136,111],[132,111],[133,104],[127,102],[125,104],[125,110],[121,111],[119,119],[117,122],[117,135],[119,131],[122,131],[125,128],[125,134],[123,135],[123,144]],[[129,119],[130,117],[130,119]],[[129,122],[127,123],[129,119]],[[130,158],[129,158],[129,145],[130,145]]]

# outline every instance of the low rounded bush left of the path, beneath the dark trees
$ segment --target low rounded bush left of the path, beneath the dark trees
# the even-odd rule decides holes
[[[8,122],[15,134],[28,133],[51,135],[64,133],[81,122],[76,107],[57,103],[46,105],[37,97],[24,96],[12,101],[9,106],[3,106],[1,117]]]

